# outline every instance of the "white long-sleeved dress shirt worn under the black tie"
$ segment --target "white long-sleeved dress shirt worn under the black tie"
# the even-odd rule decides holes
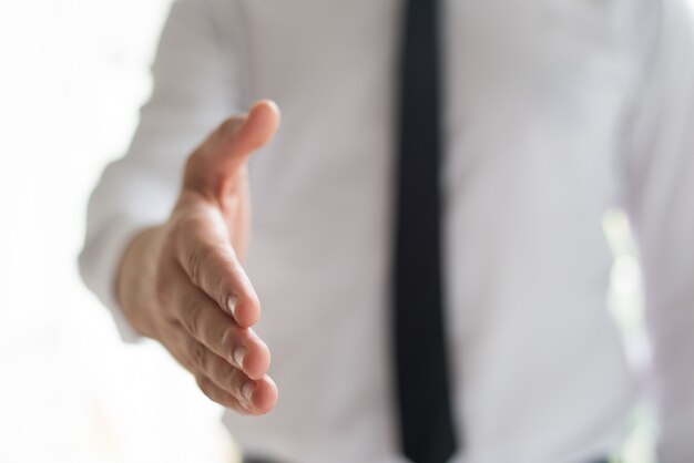
[[[113,298],[127,240],[166,219],[205,134],[278,103],[251,164],[246,267],[280,397],[224,421],[280,462],[404,462],[388,322],[401,6],[175,2],[132,147],[91,199],[82,274],[134,339]],[[445,2],[452,462],[619,445],[639,385],[605,308],[614,206],[642,253],[660,456],[694,461],[693,23],[686,0]]]

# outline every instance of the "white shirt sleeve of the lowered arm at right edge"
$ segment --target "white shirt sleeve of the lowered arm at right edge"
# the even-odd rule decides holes
[[[659,461],[677,463],[694,461],[694,18],[686,0],[649,3],[627,210],[643,266]]]

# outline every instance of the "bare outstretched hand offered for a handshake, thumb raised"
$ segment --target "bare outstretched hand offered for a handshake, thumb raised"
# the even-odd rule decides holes
[[[274,408],[277,387],[266,374],[269,350],[251,329],[261,305],[242,267],[247,160],[278,126],[268,100],[220,125],[188,157],[169,220],[130,241],[116,282],[136,331],[161,342],[210,399],[252,415]]]

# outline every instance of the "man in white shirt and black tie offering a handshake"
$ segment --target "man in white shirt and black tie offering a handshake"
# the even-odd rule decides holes
[[[180,0],[84,279],[248,457],[592,462],[636,395],[604,307],[623,206],[660,457],[694,461],[692,24],[685,0]]]

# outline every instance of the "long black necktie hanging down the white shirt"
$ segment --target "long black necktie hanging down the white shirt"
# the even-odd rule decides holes
[[[439,63],[436,0],[407,0],[400,61],[395,346],[405,455],[456,450],[441,301]]]

